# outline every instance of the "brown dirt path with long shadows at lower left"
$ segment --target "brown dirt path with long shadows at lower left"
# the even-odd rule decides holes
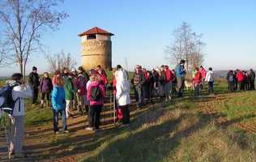
[[[96,133],[99,135],[105,134],[105,130],[116,126],[113,124],[113,111],[109,111],[109,105],[104,113],[101,113],[102,131]],[[74,111],[75,118],[67,119],[67,126],[70,133],[53,134],[53,126],[39,126],[25,128],[23,137],[23,151],[26,151],[28,158],[26,159],[11,159],[11,161],[77,161],[87,151],[78,150],[75,147],[80,147],[87,141],[94,140],[94,131],[85,130],[84,127],[88,125],[85,123],[87,115],[80,116],[79,111]],[[59,121],[60,131],[62,131],[62,121]],[[6,139],[4,130],[0,134],[0,161],[8,161],[8,154],[6,148]],[[63,142],[65,139],[65,143]],[[56,142],[56,140],[58,141]]]

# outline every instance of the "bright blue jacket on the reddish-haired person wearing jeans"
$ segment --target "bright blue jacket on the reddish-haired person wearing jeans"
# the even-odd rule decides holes
[[[63,87],[55,86],[52,92],[52,104],[53,109],[62,110],[66,108],[66,103],[63,101],[65,100],[65,92]]]

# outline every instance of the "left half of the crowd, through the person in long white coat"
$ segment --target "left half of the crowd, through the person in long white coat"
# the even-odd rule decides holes
[[[130,123],[130,83],[128,81],[128,73],[122,69],[122,66],[117,66],[116,71],[116,100],[118,108],[122,109],[122,125],[129,126]],[[72,117],[70,109],[75,105],[74,100],[77,99],[81,114],[83,111],[87,113],[89,126],[86,130],[100,131],[100,113],[104,106],[106,97],[106,87],[108,84],[105,70],[102,70],[100,65],[96,70],[89,70],[89,75],[82,66],[79,66],[78,71],[73,68],[68,72],[64,68],[62,72],[56,70],[53,79],[49,78],[47,72],[44,73],[43,79],[40,80],[37,74],[36,66],[32,67],[32,73],[28,75],[28,83],[23,80],[23,75],[15,73],[8,81],[8,85],[15,85],[12,92],[15,108],[10,116],[10,156],[26,157],[23,154],[23,132],[24,132],[24,114],[25,103],[24,99],[32,98],[32,106],[36,103],[38,92],[41,92],[41,105],[44,107],[46,96],[46,106],[52,107],[53,110],[53,131],[59,133],[58,116],[62,116],[62,132],[68,133],[66,126],[67,117]],[[51,96],[51,98],[50,98]],[[50,105],[51,100],[51,105]]]

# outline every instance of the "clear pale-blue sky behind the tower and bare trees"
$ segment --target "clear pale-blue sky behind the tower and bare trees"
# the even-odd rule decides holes
[[[207,58],[203,66],[213,70],[256,69],[256,1],[249,0],[66,0],[58,6],[70,17],[64,19],[60,30],[45,35],[42,43],[50,53],[62,50],[71,53],[81,65],[80,33],[94,28],[112,32],[113,66],[121,64],[128,70],[139,64],[147,69],[169,65],[164,49],[171,44],[172,33],[182,22],[190,24],[193,32],[203,34]],[[41,53],[30,58],[32,66],[42,74],[48,63]],[[76,67],[76,68],[77,68]],[[170,68],[173,68],[172,66]],[[0,75],[19,72],[19,66],[1,68]]]

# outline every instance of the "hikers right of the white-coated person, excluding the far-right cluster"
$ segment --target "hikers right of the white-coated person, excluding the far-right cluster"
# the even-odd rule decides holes
[[[146,70],[142,66],[136,65],[134,67],[134,75],[131,83],[134,88],[134,96],[137,108],[141,109],[145,104],[145,99],[148,102],[154,96],[160,96],[164,100],[171,100],[174,94],[177,97],[182,97],[185,87],[185,60],[181,60],[176,66],[176,69],[169,70],[169,66],[160,66],[160,68],[151,68]],[[200,89],[205,88],[205,83],[208,83],[208,92],[214,93],[213,83],[215,80],[212,68],[209,70],[200,66],[192,71],[192,78],[194,84],[194,96],[198,96]]]

